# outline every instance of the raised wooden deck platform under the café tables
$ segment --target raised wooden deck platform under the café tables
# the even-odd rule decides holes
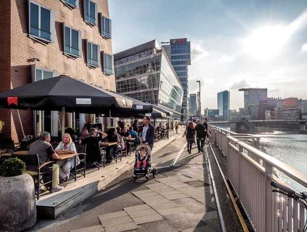
[[[158,152],[174,139],[176,138],[172,137],[170,140],[155,144],[153,153]],[[72,180],[67,184],[61,184],[61,186],[65,186],[62,191],[42,194],[40,199],[36,201],[37,217],[51,220],[58,218],[132,168],[134,163],[135,155],[132,154],[123,157],[122,161],[118,161],[117,164],[113,162],[105,168],[100,168],[99,171],[98,169],[86,171],[85,178],[81,174],[77,175],[77,181]]]

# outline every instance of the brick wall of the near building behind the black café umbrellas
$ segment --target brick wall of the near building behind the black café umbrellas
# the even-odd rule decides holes
[[[108,54],[113,54],[113,51],[111,39],[105,40],[100,35],[97,26],[92,28],[83,20],[83,0],[79,0],[80,8],[73,11],[60,0],[33,1],[55,10],[55,42],[46,46],[28,37],[28,1],[4,1],[5,3],[2,3],[0,8],[0,28],[5,39],[2,38],[0,44],[0,60],[8,60],[0,64],[1,81],[5,82],[0,86],[0,91],[30,83],[31,64],[56,70],[58,75],[67,74],[73,78],[82,79],[86,83],[102,86],[104,89],[116,90],[114,75],[108,77],[102,73],[101,68],[93,69],[86,65],[85,39],[100,44],[101,51]],[[96,0],[95,2],[98,4],[98,13],[109,17],[107,0]],[[8,14],[11,16],[8,17]],[[74,60],[63,55],[62,22],[82,32],[82,58]],[[98,25],[100,26],[100,22]],[[3,29],[8,33],[5,33]],[[11,34],[11,39],[5,37],[9,34]],[[9,60],[10,54],[11,60]],[[40,61],[32,61],[32,58],[38,58]],[[10,110],[0,110],[0,120],[1,117],[5,118],[5,121],[8,120],[3,129],[4,136],[10,136],[8,132],[11,131],[12,137],[17,141],[26,134],[33,134],[31,110],[19,110],[19,114],[17,110],[12,110],[11,123],[8,117],[9,112]]]

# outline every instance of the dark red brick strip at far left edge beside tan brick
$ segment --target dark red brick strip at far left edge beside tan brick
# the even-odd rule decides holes
[[[9,90],[11,88],[11,3],[4,1],[0,7],[0,92]],[[11,110],[0,109],[0,120],[5,123],[2,129],[3,137],[10,137],[11,135]]]

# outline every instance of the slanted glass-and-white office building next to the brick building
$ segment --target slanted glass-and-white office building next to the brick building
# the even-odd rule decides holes
[[[116,91],[161,106],[181,118],[183,86],[156,40],[114,54]]]

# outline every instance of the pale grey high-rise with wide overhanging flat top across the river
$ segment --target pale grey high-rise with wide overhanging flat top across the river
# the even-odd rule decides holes
[[[259,104],[260,100],[268,98],[267,88],[241,88],[244,91],[244,113],[251,114],[251,106]],[[255,110],[254,110],[255,113]]]

